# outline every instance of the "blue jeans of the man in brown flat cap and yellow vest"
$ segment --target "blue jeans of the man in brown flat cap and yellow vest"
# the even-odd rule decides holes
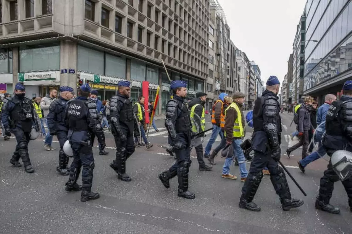
[[[247,171],[247,167],[246,167],[246,158],[244,157],[243,150],[240,146],[241,143],[242,143],[241,139],[234,139],[232,141],[233,155],[232,155],[232,157],[225,159],[224,166],[222,167],[222,174],[223,175],[227,175],[228,173],[230,173],[230,166],[233,162],[233,157],[235,155],[238,159],[241,178],[247,178],[248,171]]]

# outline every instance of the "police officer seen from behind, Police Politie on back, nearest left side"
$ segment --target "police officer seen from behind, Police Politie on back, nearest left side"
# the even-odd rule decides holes
[[[68,125],[68,140],[73,150],[73,162],[70,167],[70,176],[65,190],[82,190],[81,201],[86,202],[99,198],[99,194],[92,192],[93,183],[93,142],[90,133],[94,133],[102,147],[105,147],[103,128],[99,121],[95,102],[88,100],[90,93],[89,84],[83,84],[78,89],[78,97],[67,103],[65,123]],[[82,169],[82,187],[77,184],[77,179]]]

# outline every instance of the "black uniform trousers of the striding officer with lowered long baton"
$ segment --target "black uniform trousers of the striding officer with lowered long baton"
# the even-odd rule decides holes
[[[247,180],[242,188],[242,196],[248,202],[251,202],[258,186],[263,178],[262,170],[267,167],[270,172],[270,180],[276,194],[279,195],[281,200],[291,199],[291,192],[288,187],[287,179],[282,167],[271,157],[271,152],[265,153],[254,151],[254,158],[251,162]],[[247,197],[246,197],[247,196]]]

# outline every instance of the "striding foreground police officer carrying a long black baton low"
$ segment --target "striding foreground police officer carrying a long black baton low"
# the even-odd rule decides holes
[[[281,157],[282,132],[279,115],[281,108],[277,97],[279,86],[278,78],[270,76],[266,82],[266,90],[254,103],[252,137],[254,158],[239,202],[240,208],[251,211],[260,211],[260,207],[253,202],[253,198],[262,181],[262,170],[265,167],[270,171],[271,183],[280,197],[283,210],[300,207],[304,203],[291,197],[284,170],[278,164]]]

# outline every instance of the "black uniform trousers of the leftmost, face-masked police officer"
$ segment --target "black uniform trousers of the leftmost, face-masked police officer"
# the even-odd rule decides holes
[[[13,152],[12,158],[15,161],[18,161],[20,158],[24,166],[31,165],[31,161],[29,159],[28,153],[28,143],[30,141],[29,132],[24,132],[21,128],[15,127],[11,130],[11,132],[15,135],[17,145],[15,152]]]

